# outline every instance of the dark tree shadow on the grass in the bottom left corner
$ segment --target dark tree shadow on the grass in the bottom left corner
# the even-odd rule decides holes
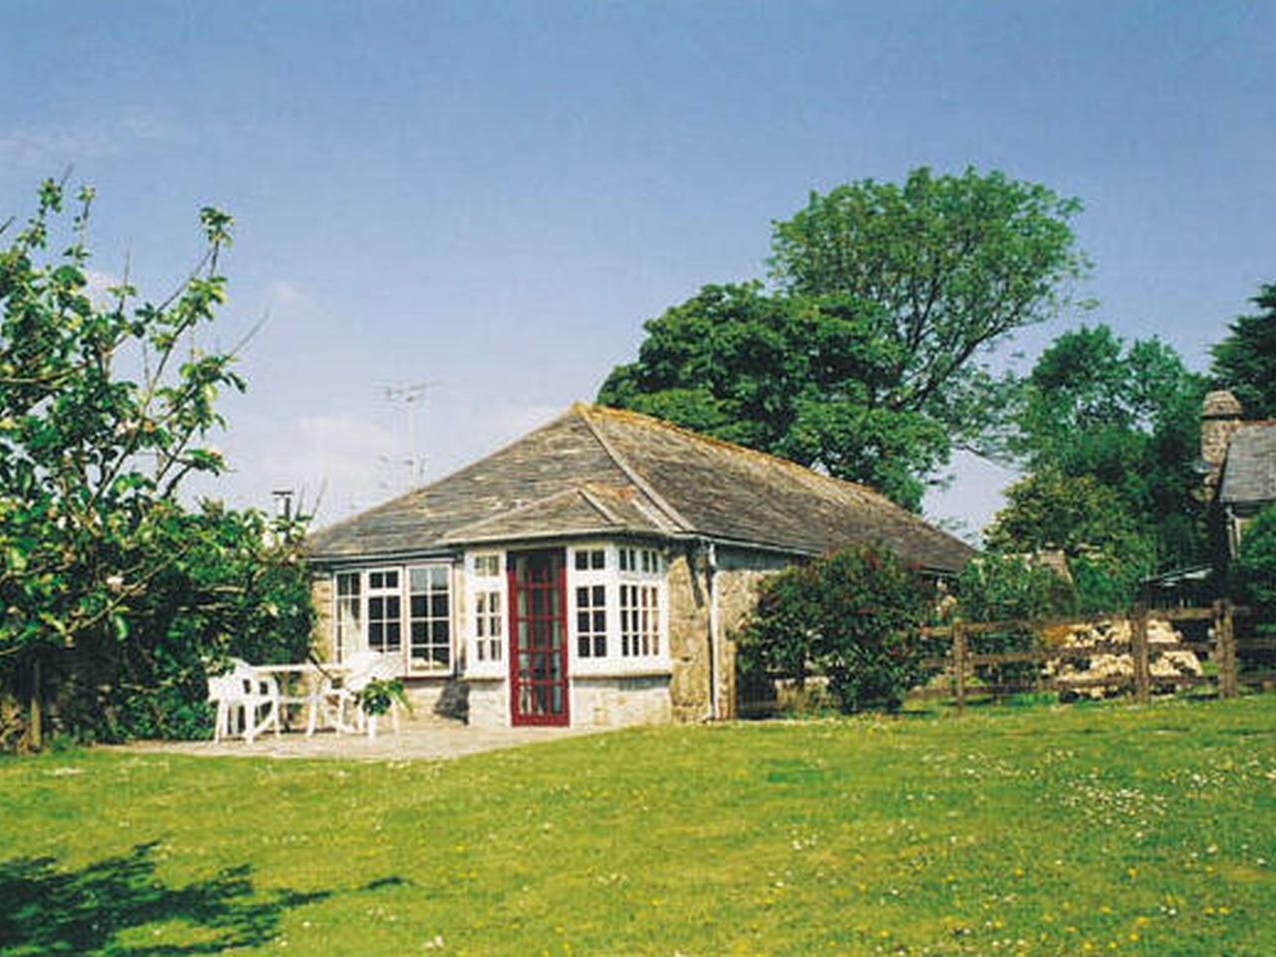
[[[79,870],[63,870],[52,857],[0,863],[0,956],[219,953],[273,940],[288,910],[332,896],[258,893],[249,865],[168,887],[156,875],[157,845],[140,843]],[[140,940],[143,928],[154,931],[154,943]],[[130,930],[133,939],[121,940]]]

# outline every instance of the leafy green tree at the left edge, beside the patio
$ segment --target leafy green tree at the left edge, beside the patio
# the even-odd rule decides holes
[[[208,444],[223,425],[216,397],[244,388],[232,353],[198,345],[225,300],[230,217],[202,211],[205,254],[172,296],[140,301],[125,278],[100,300],[88,277],[92,199],[82,190],[66,223],[63,185],[45,182],[37,212],[0,250],[0,695],[38,703],[47,688],[82,703],[68,706],[82,716],[71,730],[112,734],[101,718],[121,689],[186,681],[195,693],[200,655],[225,653],[249,620],[195,629],[219,644],[172,642],[177,623],[228,595],[260,597],[242,564],[222,559],[269,564],[273,546],[259,521],[190,513],[179,498],[188,476],[223,468]],[[163,653],[181,675],[157,664]]]

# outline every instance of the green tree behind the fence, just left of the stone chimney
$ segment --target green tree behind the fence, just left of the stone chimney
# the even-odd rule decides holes
[[[1021,384],[1011,448],[1028,473],[986,542],[1062,549],[1139,574],[1205,555],[1198,484],[1205,383],[1157,339],[1106,325],[1059,336]],[[1127,588],[1128,591],[1128,588]]]

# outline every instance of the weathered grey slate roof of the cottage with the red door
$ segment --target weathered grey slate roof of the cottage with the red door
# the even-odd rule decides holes
[[[974,554],[865,486],[583,403],[445,478],[315,532],[308,553],[341,561],[600,535],[804,555],[882,544],[935,570],[956,570]]]

